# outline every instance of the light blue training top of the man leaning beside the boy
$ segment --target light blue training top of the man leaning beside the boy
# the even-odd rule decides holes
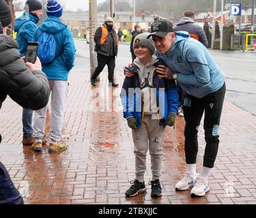
[[[207,48],[201,42],[190,38],[186,31],[177,31],[175,34],[171,50],[164,55],[159,55],[156,51],[155,55],[177,72],[177,83],[182,89],[198,98],[221,89],[225,75]]]

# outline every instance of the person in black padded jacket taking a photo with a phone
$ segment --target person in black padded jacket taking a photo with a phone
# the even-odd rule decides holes
[[[12,22],[10,7],[0,0],[0,108],[9,95],[23,108],[39,110],[48,103],[50,87],[46,75],[41,71],[40,60],[35,64],[20,58],[18,45],[6,35]],[[0,136],[1,142],[1,136]],[[0,161],[0,204],[24,204],[23,198],[12,183]]]

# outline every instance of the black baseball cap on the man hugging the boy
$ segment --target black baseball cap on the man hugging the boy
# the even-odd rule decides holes
[[[169,20],[156,20],[152,22],[150,32],[151,33],[147,36],[147,39],[152,35],[164,37],[167,33],[173,32],[173,24]]]

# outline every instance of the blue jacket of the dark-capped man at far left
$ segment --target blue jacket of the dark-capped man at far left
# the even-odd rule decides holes
[[[38,18],[32,14],[24,13],[14,22],[14,31],[17,32],[18,50],[22,56],[26,55],[27,43],[33,42],[33,35],[38,28]]]

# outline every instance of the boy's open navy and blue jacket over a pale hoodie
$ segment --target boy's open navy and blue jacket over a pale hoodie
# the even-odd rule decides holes
[[[158,61],[154,64],[154,67],[162,65],[162,61]],[[121,92],[121,101],[124,108],[124,118],[134,116],[134,119],[137,121],[137,126],[141,127],[141,122],[143,121],[143,105],[141,102],[141,94],[137,91],[134,91],[134,95],[129,96],[129,89],[132,90],[140,89],[139,75],[137,74],[138,67],[134,65],[134,76],[126,77],[124,79],[122,92]],[[169,113],[177,114],[178,95],[177,87],[174,80],[161,79],[158,77],[157,72],[154,70],[153,74],[153,87],[156,88],[156,99],[159,107],[159,117],[162,118],[159,120],[159,125],[165,126],[168,119]],[[164,104],[160,103],[164,100]],[[139,106],[138,106],[139,104]]]

